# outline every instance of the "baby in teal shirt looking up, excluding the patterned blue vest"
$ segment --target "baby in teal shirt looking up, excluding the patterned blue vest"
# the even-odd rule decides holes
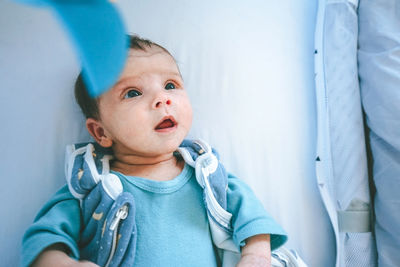
[[[118,82],[91,99],[78,77],[75,95],[89,133],[112,150],[111,172],[135,198],[133,266],[218,266],[203,189],[194,169],[174,153],[190,130],[192,108],[171,54],[149,40],[130,37]],[[229,175],[226,193],[231,234],[241,250],[237,266],[270,266],[271,248],[285,242],[285,233],[242,181]],[[23,263],[97,266],[77,252],[85,226],[68,187],[49,203],[24,236]]]

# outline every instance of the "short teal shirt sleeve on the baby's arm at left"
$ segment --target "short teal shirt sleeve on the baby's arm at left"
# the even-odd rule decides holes
[[[22,266],[29,266],[48,246],[65,244],[71,256],[79,258],[81,212],[79,201],[68,190],[61,188],[36,216],[22,240]]]

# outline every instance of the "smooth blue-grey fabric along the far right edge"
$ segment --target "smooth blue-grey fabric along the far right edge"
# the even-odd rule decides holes
[[[379,266],[400,266],[400,2],[360,1],[359,75],[370,129]]]

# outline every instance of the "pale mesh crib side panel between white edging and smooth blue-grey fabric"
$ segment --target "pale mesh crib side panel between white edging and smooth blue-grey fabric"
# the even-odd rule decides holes
[[[333,181],[329,185],[339,214],[349,208],[353,199],[370,203],[357,42],[356,6],[349,1],[327,4],[324,24],[325,101],[333,170]],[[364,218],[369,220],[370,216]],[[338,253],[338,266],[376,265],[375,242],[371,233],[341,233]]]

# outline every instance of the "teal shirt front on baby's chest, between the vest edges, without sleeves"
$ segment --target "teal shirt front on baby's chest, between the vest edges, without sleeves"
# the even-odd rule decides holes
[[[190,166],[163,182],[115,174],[135,199],[134,266],[217,266],[203,190]]]

